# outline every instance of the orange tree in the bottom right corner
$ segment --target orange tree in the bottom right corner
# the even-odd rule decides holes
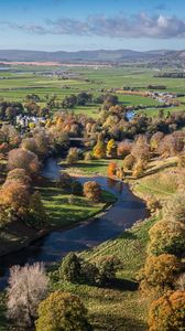
[[[184,321],[184,291],[168,291],[166,295],[152,302],[148,319],[150,331],[183,331]]]

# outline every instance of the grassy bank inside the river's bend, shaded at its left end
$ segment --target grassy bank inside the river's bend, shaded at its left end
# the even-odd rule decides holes
[[[0,232],[0,257],[30,246],[33,242],[56,229],[67,229],[84,221],[90,221],[106,212],[116,201],[110,192],[102,192],[100,203],[91,203],[84,196],[64,194],[64,192],[47,182],[45,186],[36,186],[48,215],[46,226],[36,229],[23,222],[9,223]]]

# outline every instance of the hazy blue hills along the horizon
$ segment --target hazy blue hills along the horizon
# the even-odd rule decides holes
[[[1,61],[22,61],[22,62],[65,62],[65,63],[112,63],[112,62],[155,62],[155,61],[185,61],[185,51],[146,51],[137,52],[131,50],[97,50],[79,52],[43,52],[43,51],[20,51],[0,50]]]

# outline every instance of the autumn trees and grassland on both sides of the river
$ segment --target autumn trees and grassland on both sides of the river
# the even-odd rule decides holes
[[[116,75],[113,84],[117,79]],[[170,92],[174,81],[167,83]],[[120,88],[120,83],[115,87]],[[129,183],[151,212],[118,238],[70,253],[47,269],[42,264],[12,267],[1,293],[1,330],[184,328],[185,111],[171,108],[150,117],[150,111],[140,109],[128,119],[128,96],[109,88],[105,85],[98,95],[94,89],[69,92],[59,105],[50,94],[44,105],[34,94],[26,96],[26,103],[0,103],[1,255],[115,202],[96,181],[81,185],[75,173],[107,174]],[[92,104],[100,109],[92,117],[85,115]],[[17,122],[19,115],[29,122]],[[50,156],[63,158],[55,181],[42,175]]]

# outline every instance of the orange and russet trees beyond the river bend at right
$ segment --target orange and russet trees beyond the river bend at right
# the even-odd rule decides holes
[[[123,158],[121,167],[118,167],[116,162],[110,162],[108,167],[109,177],[124,178],[126,173],[132,173],[133,177],[139,178],[143,175],[148,169],[149,160],[153,157],[167,158],[178,156],[178,166],[184,167],[184,132],[176,131],[164,136],[157,131],[149,138],[140,135],[132,142],[123,140],[117,143],[111,139],[107,143],[107,149],[108,147],[111,158]],[[94,156],[97,158],[100,156],[106,157],[106,143],[98,141],[94,151]]]

